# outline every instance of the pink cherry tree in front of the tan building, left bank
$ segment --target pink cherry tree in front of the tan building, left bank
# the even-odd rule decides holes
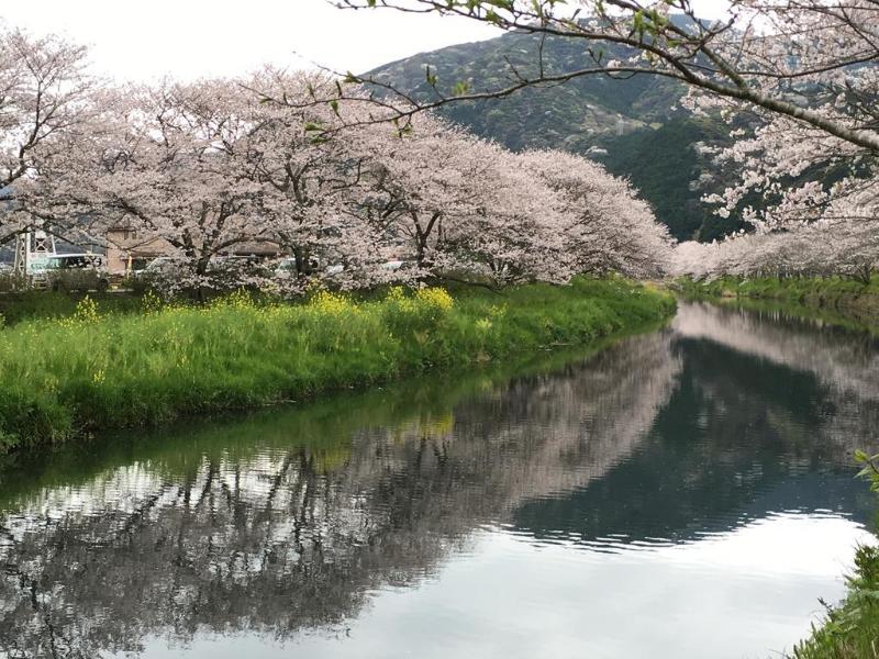
[[[102,91],[91,130],[41,164],[29,202],[64,204],[94,235],[125,228],[203,278],[216,255],[269,238],[241,100],[219,80]]]

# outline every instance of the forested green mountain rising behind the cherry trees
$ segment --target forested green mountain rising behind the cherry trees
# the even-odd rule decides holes
[[[508,87],[512,70],[536,75],[543,53],[547,74],[589,66],[588,43],[511,32],[493,40],[449,46],[393,62],[367,74],[422,100],[450,94],[459,82],[474,92]],[[604,47],[602,57],[628,55]],[[436,90],[429,83],[435,76]],[[526,88],[504,99],[444,107],[441,114],[507,147],[563,148],[586,155],[628,178],[678,239],[711,241],[738,225],[721,221],[701,203],[691,182],[704,165],[700,141],[726,139],[721,124],[680,109],[682,83],[657,76],[612,80],[587,76],[564,85]]]

